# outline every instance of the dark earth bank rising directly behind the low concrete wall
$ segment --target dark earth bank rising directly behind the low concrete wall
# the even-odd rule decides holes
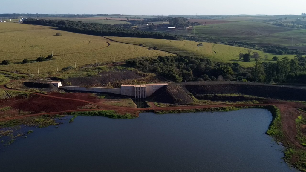
[[[74,78],[67,78],[64,80],[63,84],[66,86],[79,86],[79,87],[99,87],[99,86],[106,86],[109,83],[113,83],[116,81],[122,80],[133,80],[142,78],[140,74],[134,71],[109,71],[109,72],[102,72],[99,73],[101,77],[74,77]],[[67,84],[69,83],[69,84]]]

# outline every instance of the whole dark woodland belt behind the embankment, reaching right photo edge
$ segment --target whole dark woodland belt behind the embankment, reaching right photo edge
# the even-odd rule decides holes
[[[137,58],[126,65],[145,72],[156,73],[174,82],[248,80],[260,82],[306,83],[306,57],[283,58],[277,62],[260,62],[243,68],[238,63],[212,62],[210,59],[190,56]]]

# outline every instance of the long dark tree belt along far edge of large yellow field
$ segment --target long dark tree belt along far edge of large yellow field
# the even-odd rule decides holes
[[[69,20],[36,20],[33,18],[26,19],[25,24],[36,24],[43,26],[58,27],[59,30],[82,33],[97,36],[121,36],[121,37],[138,37],[138,38],[157,38],[157,39],[172,39],[181,40],[180,36],[171,35],[160,32],[145,32],[131,28],[129,24],[99,24],[99,23],[83,23],[81,21]]]

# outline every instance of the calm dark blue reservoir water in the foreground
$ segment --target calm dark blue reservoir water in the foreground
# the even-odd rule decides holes
[[[289,172],[263,109],[77,117],[0,152],[1,172]],[[282,162],[282,163],[281,163]]]

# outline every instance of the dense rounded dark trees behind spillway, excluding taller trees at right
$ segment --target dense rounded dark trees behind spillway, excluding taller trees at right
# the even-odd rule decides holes
[[[174,82],[215,81],[220,75],[225,79],[233,79],[238,73],[245,73],[245,69],[238,63],[222,64],[190,56],[138,58],[127,60],[126,65],[145,72],[154,72]]]

